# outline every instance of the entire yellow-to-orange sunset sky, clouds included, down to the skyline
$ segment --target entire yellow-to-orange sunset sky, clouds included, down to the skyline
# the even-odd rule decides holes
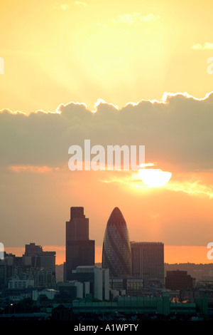
[[[35,242],[62,263],[70,207],[83,206],[101,262],[119,207],[131,241],[163,242],[165,262],[211,262],[212,10],[205,0],[1,1],[7,252]],[[68,149],[85,139],[145,145],[146,164],[172,177],[149,187],[131,170],[70,171]]]

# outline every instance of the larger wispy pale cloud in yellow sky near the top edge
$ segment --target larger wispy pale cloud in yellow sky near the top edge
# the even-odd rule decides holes
[[[113,19],[112,22],[114,24],[133,24],[136,21],[143,21],[143,22],[151,22],[155,21],[156,19],[160,19],[160,16],[155,16],[154,14],[147,14],[145,16],[141,16],[140,13],[126,13],[123,15],[119,15],[116,17],[116,19]]]

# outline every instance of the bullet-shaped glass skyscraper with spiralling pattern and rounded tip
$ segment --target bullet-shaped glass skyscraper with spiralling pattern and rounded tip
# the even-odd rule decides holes
[[[131,246],[126,221],[115,207],[111,212],[104,234],[102,267],[109,269],[111,278],[131,276]]]

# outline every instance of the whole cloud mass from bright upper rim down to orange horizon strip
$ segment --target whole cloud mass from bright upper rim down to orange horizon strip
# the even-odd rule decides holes
[[[87,208],[97,244],[102,243],[114,205],[124,208],[133,239],[141,232],[147,240],[205,243],[212,232],[213,93],[203,98],[165,93],[162,100],[141,100],[122,108],[98,99],[93,113],[80,102],[55,107],[29,114],[0,112],[5,245],[35,239],[44,245],[62,244],[62,222],[75,205],[84,206],[85,212]],[[133,178],[131,171],[72,172],[68,150],[71,145],[84,150],[85,139],[90,139],[91,148],[103,145],[105,153],[107,145],[145,145],[146,168],[154,166],[173,176],[167,185],[153,189]]]

